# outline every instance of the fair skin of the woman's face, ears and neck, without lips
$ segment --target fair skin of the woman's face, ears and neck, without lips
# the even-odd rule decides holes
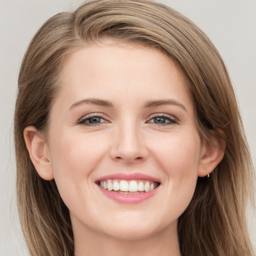
[[[197,176],[223,157],[200,141],[182,72],[157,49],[112,43],[76,51],[63,73],[47,139],[33,126],[24,137],[37,172],[55,179],[69,208],[75,256],[180,255],[178,217]],[[112,106],[81,102],[88,98]],[[144,107],[150,100],[172,101]],[[102,116],[97,126],[81,123],[91,114]],[[140,203],[119,203],[95,183],[117,172],[148,174],[160,186]]]

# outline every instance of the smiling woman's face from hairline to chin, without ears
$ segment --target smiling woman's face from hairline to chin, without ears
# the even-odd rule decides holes
[[[74,233],[176,231],[203,150],[174,62],[154,48],[85,47],[66,62],[60,86],[48,152]]]

